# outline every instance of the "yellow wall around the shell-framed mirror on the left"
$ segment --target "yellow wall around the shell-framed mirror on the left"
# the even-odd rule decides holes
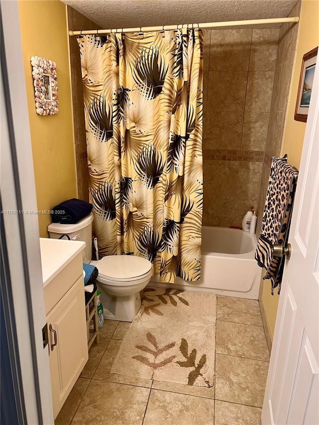
[[[50,210],[77,196],[66,9],[59,0],[19,0],[18,5],[37,208]],[[42,117],[35,112],[33,55],[56,62],[57,115]],[[41,237],[48,236],[50,222],[50,215],[39,215]]]

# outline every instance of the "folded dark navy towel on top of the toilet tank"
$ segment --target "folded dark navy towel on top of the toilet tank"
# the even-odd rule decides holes
[[[68,199],[52,208],[52,223],[75,224],[90,214],[93,205],[81,199]]]

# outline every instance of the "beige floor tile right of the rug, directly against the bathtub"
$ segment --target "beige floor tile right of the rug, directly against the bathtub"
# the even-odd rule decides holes
[[[217,319],[228,322],[263,326],[256,299],[217,296]]]

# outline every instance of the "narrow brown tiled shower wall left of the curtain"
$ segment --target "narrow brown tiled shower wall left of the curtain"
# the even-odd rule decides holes
[[[94,22],[83,16],[70,6],[67,6],[68,29],[96,29],[99,28]],[[80,52],[76,37],[69,37],[70,45],[70,69],[72,87],[72,107],[74,123],[74,143],[76,159],[76,176],[78,197],[89,201],[88,165],[86,152],[84,102],[81,75]]]

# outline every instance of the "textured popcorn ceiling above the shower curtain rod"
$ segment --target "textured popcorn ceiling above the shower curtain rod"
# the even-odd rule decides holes
[[[286,17],[297,3],[297,0],[62,1],[105,29]]]

